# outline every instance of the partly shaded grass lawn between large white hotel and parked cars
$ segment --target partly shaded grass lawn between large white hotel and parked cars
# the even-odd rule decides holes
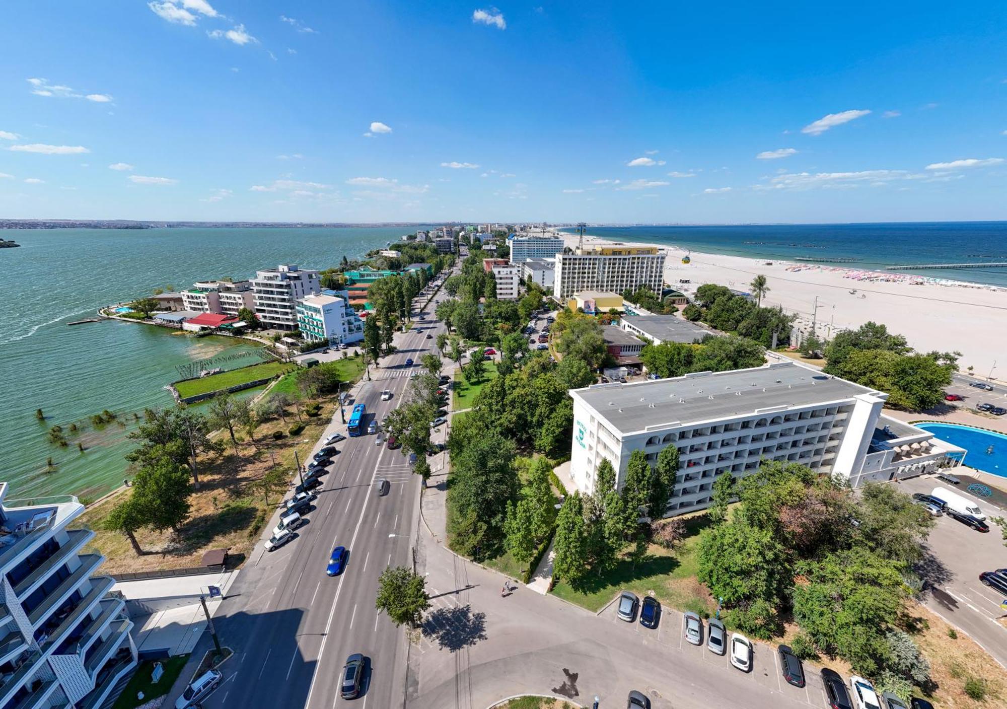
[[[580,589],[574,589],[561,580],[552,592],[594,612],[619,591],[629,590],[637,596],[654,595],[662,604],[673,608],[709,615],[716,604],[696,580],[699,532],[706,525],[706,517],[695,520],[687,526],[689,536],[675,551],[653,544],[635,568],[632,562],[622,559],[614,569],[600,577],[589,573]]]

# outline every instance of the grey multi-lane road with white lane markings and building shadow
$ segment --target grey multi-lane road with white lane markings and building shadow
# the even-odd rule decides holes
[[[425,297],[424,297],[425,300]],[[417,307],[422,301],[417,301]],[[425,321],[396,336],[396,351],[373,368],[373,381],[354,388],[355,403],[367,407],[368,419],[381,421],[399,405],[419,371],[419,358],[430,351],[443,325],[432,322],[431,303]],[[416,330],[418,325],[420,330]],[[409,368],[407,359],[417,364]],[[382,401],[383,390],[393,397]],[[347,409],[348,415],[348,409]],[[345,426],[338,414],[325,436]],[[315,709],[343,703],[339,697],[347,656],[368,659],[361,707],[386,709],[402,705],[405,686],[404,633],[375,608],[378,577],[388,566],[411,565],[411,535],[416,530],[420,478],[402,450],[390,450],[375,435],[347,438],[321,487],[316,488],[308,524],[297,538],[267,553],[256,545],[229,590],[214,622],[236,655],[222,667],[224,682],[203,703],[218,707],[286,707]],[[310,450],[321,447],[316,442]],[[302,453],[308,452],[305,449]],[[391,482],[379,497],[376,479]],[[274,525],[274,518],[270,525]],[[332,548],[349,550],[345,571],[325,575]]]

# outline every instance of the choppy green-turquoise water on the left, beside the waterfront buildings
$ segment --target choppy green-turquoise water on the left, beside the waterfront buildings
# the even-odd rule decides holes
[[[411,231],[364,229],[10,230],[19,249],[0,250],[0,480],[10,497],[74,492],[100,495],[122,482],[134,412],[172,404],[163,387],[175,367],[221,358],[226,369],[258,361],[258,345],[229,337],[195,338],[133,322],[67,326],[99,306],[155,287],[248,277],[281,263],[337,265]],[[46,416],[34,416],[41,408]],[[96,429],[105,409],[125,426]],[[71,423],[65,448],[48,427]],[[81,441],[86,452],[78,450]],[[46,471],[51,456],[54,469]]]

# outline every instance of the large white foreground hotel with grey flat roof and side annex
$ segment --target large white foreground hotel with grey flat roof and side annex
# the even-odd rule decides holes
[[[570,475],[584,492],[593,491],[603,458],[621,487],[633,451],[654,465],[665,447],[678,447],[679,474],[661,516],[708,507],[718,475],[750,474],[763,459],[801,463],[859,486],[960,465],[965,455],[883,416],[887,394],[795,363],[594,385],[570,395]]]

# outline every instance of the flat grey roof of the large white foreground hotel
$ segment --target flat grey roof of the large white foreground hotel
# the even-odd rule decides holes
[[[843,401],[861,394],[887,397],[788,362],[675,379],[597,384],[570,392],[623,435],[649,427],[747,416],[763,409]]]

